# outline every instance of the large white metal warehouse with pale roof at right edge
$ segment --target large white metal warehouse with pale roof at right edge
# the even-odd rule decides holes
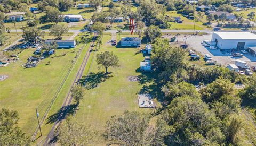
[[[221,50],[241,50],[256,46],[256,35],[250,32],[213,32],[211,41]]]

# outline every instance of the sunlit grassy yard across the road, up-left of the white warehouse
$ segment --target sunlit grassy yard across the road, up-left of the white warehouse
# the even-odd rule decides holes
[[[170,17],[181,17],[181,20],[183,23],[175,23],[175,22],[169,22],[171,24],[171,27],[169,29],[194,29],[194,21],[187,19],[186,17],[182,16],[181,14],[177,14],[177,11],[167,11],[166,12],[167,16]],[[196,30],[202,30],[205,29],[206,27],[203,25],[202,22],[198,21],[196,22],[195,29]]]

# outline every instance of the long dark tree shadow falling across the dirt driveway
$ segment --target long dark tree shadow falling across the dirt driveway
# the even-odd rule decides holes
[[[54,113],[49,118],[47,118],[46,124],[53,124],[55,122],[62,121],[62,119],[65,119],[67,115],[75,114],[76,108],[77,104],[71,104],[62,107],[57,113]]]

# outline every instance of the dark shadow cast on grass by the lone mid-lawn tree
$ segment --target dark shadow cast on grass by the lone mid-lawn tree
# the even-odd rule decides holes
[[[79,84],[84,85],[84,87],[89,90],[96,88],[101,82],[105,82],[107,79],[113,77],[113,75],[106,74],[105,72],[89,73],[87,76],[83,76],[82,79],[78,81]]]

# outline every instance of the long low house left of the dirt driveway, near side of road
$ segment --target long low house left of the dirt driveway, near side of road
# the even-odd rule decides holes
[[[74,48],[74,47],[76,47],[75,40],[45,40],[44,42],[46,44],[52,44],[54,41],[57,43],[58,48]]]

